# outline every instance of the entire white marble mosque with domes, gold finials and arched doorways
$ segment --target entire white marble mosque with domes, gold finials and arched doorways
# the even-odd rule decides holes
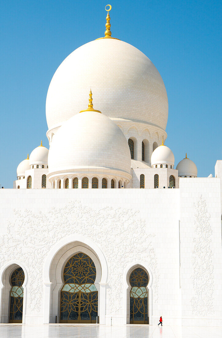
[[[164,82],[106,20],[51,80],[49,147],[0,191],[1,322],[219,326],[222,161],[175,164]]]

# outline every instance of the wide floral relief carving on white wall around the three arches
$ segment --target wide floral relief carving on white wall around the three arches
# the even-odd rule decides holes
[[[84,234],[103,250],[109,271],[107,297],[113,313],[121,307],[124,267],[135,259],[152,269],[153,298],[158,302],[159,271],[150,239],[155,235],[146,234],[145,221],[137,218],[138,211],[111,207],[94,210],[75,200],[46,214],[14,212],[15,223],[9,223],[7,234],[0,238],[1,265],[17,257],[29,267],[28,306],[33,312],[41,309],[45,256],[53,244],[71,233]]]

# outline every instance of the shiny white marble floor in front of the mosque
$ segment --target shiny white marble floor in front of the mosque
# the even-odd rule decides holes
[[[219,338],[219,327],[98,324],[0,324],[1,338]]]

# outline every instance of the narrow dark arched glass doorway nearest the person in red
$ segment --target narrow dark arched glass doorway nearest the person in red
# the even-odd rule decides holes
[[[147,272],[138,267],[134,269],[129,278],[130,289],[130,324],[149,324],[149,302],[147,285],[149,276]]]

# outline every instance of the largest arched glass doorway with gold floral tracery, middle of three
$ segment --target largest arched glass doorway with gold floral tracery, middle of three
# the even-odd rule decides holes
[[[95,264],[88,255],[79,252],[67,261],[60,292],[60,323],[96,323],[98,291],[95,278]]]

